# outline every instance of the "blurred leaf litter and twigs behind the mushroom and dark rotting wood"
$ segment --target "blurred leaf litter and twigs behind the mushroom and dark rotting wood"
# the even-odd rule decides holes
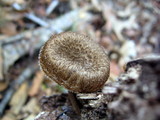
[[[42,96],[66,93],[39,69],[51,35],[90,36],[109,55],[114,81],[128,61],[160,54],[159,0],[0,0],[0,115],[33,120]]]

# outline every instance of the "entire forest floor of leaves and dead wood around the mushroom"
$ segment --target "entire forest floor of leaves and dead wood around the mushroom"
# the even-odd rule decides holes
[[[159,0],[1,0],[0,119],[159,120]],[[38,65],[51,35],[90,36],[110,58],[101,91],[76,94],[45,77]]]

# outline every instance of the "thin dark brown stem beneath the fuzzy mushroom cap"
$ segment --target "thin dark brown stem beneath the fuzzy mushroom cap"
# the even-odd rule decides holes
[[[69,96],[69,100],[71,102],[71,105],[74,109],[74,111],[76,112],[77,115],[81,114],[81,110],[80,110],[80,105],[79,102],[76,98],[76,94],[73,92],[68,91],[68,96]]]

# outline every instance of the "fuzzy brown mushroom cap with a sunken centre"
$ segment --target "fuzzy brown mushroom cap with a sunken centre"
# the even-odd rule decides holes
[[[89,37],[64,32],[54,36],[40,50],[39,63],[44,73],[75,93],[100,90],[109,77],[109,58]]]

